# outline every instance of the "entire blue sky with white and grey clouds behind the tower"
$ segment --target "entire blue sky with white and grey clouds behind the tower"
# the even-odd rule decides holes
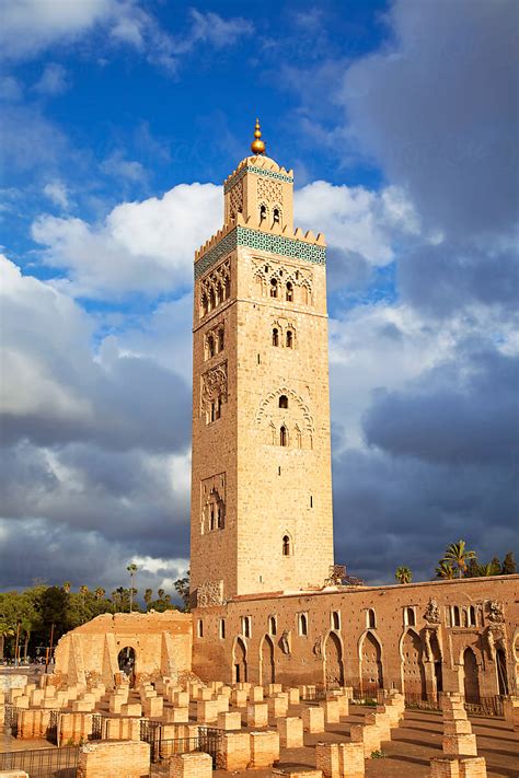
[[[193,252],[256,115],[328,241],[337,560],[517,548],[515,3],[0,13],[0,585],[185,569]]]

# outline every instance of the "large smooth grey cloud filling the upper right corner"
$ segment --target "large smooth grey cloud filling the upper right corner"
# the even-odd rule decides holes
[[[515,0],[399,0],[387,49],[355,62],[342,98],[349,132],[450,235],[517,219]]]

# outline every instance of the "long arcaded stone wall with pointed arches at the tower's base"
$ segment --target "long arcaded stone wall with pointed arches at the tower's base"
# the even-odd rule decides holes
[[[485,697],[501,690],[500,661],[515,693],[518,583],[503,576],[235,599],[194,612],[193,669],[204,680],[234,681],[239,664],[240,680],[246,672],[253,683],[344,682],[424,697],[466,687]]]

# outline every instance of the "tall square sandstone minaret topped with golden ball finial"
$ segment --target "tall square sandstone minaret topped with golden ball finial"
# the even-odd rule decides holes
[[[322,587],[333,564],[325,242],[293,230],[292,171],[254,136],[195,255],[198,607]]]

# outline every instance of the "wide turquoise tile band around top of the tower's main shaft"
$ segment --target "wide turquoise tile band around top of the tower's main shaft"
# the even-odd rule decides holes
[[[195,279],[200,278],[220,257],[229,254],[237,246],[257,248],[270,254],[304,259],[314,265],[326,264],[326,248],[324,246],[316,246],[313,243],[305,243],[293,237],[285,237],[285,235],[272,235],[269,232],[251,230],[249,227],[235,227],[195,263]]]

